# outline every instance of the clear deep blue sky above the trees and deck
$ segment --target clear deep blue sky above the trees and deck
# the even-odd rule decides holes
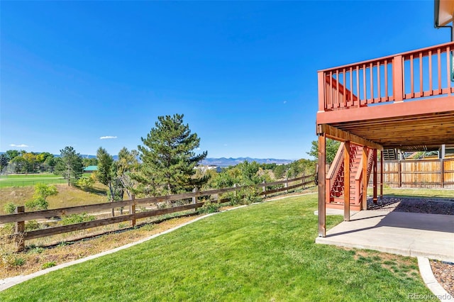
[[[116,155],[184,113],[208,157],[309,158],[317,70],[450,40],[433,1],[1,1],[0,14],[2,152]]]

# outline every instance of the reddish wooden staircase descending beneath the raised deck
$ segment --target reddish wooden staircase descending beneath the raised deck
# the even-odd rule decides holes
[[[326,175],[326,207],[343,208],[345,191],[344,144],[341,143]],[[367,181],[372,172],[372,150],[367,150]],[[360,211],[362,202],[362,146],[350,143],[350,210]]]

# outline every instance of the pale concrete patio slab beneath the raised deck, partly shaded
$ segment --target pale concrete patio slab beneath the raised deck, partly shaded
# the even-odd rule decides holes
[[[454,262],[454,216],[360,211],[316,242]]]

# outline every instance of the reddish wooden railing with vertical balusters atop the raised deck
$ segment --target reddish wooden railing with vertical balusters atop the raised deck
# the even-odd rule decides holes
[[[450,96],[454,42],[319,71],[319,111]]]

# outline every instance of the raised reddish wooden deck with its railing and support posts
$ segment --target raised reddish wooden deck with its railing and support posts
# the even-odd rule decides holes
[[[318,72],[319,213],[325,213],[331,197],[325,171],[326,138],[352,142],[366,150],[428,150],[454,144],[454,84],[450,81],[453,51],[454,43],[450,42]],[[348,152],[344,156],[348,163]],[[373,169],[367,170],[367,164],[358,169],[373,174],[376,200],[377,159],[373,161]],[[365,176],[361,177],[363,182],[369,177],[367,173]],[[344,186],[350,187],[349,179],[343,180]],[[350,203],[362,203],[350,198],[345,197],[343,203],[345,220],[349,219]],[[319,235],[324,237],[322,216]]]

